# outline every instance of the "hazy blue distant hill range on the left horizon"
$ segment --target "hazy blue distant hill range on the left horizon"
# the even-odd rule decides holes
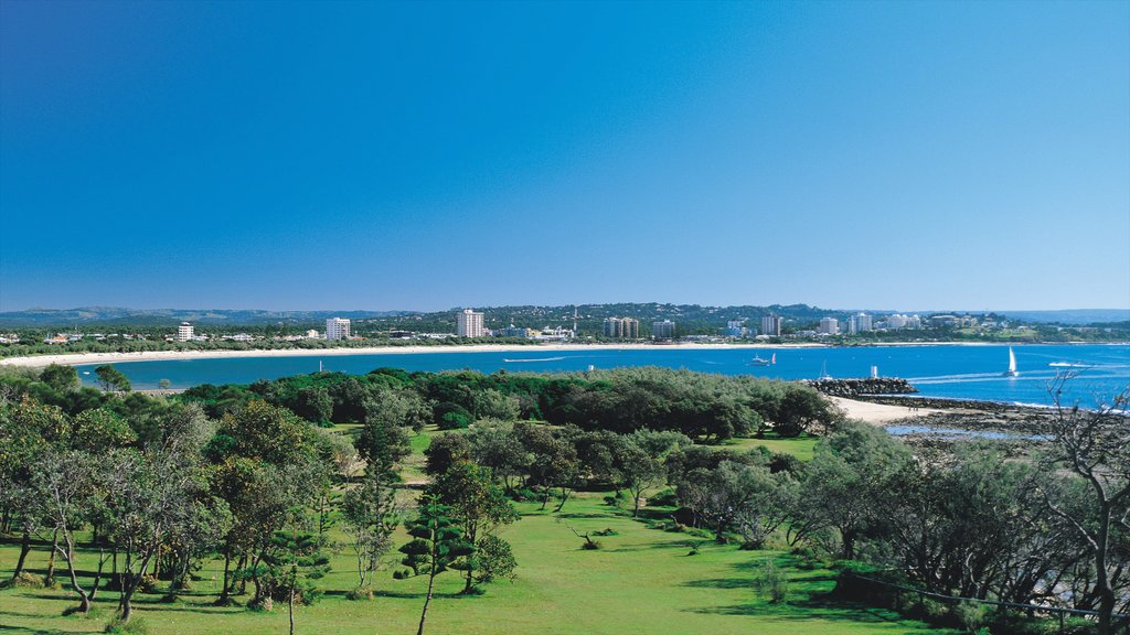
[[[139,327],[194,324],[257,325],[277,323],[311,323],[327,318],[366,320],[407,315],[411,311],[258,311],[228,308],[123,308],[118,306],[84,306],[79,308],[29,308],[0,313],[0,328],[89,327],[95,324],[130,324]]]

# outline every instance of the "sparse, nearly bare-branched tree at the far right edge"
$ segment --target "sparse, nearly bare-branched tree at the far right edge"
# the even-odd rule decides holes
[[[1116,532],[1130,531],[1130,386],[1096,410],[1078,403],[1067,408],[1060,395],[1074,374],[1052,384],[1054,418],[1048,434],[1052,449],[1044,458],[1049,469],[1067,469],[1087,484],[1089,504],[1067,504],[1058,492],[1045,492],[1048,508],[1067,521],[1086,541],[1094,560],[1094,593],[1098,597],[1098,633],[1114,633],[1118,601],[1114,579],[1127,575],[1125,563],[1112,557]]]

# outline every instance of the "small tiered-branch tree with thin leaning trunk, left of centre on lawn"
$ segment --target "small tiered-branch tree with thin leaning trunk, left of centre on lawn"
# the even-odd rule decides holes
[[[428,604],[435,590],[435,576],[447,571],[460,558],[475,553],[475,546],[463,539],[463,532],[451,517],[451,507],[440,503],[438,496],[425,495],[419,515],[405,527],[412,540],[400,548],[405,555],[401,563],[415,575],[427,575],[427,597],[420,611],[420,625],[416,635],[424,635]]]

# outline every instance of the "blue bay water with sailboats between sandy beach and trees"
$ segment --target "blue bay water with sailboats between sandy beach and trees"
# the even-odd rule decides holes
[[[857,348],[694,349],[645,348],[511,353],[418,353],[393,355],[327,355],[324,357],[240,357],[115,364],[133,386],[155,389],[167,379],[173,388],[202,383],[251,383],[313,373],[319,362],[327,371],[364,374],[391,366],[408,371],[471,368],[484,373],[584,371],[621,366],[667,366],[727,375],[751,374],[781,380],[815,379],[824,368],[833,377],[863,377],[872,365],[879,374],[904,377],[924,397],[979,399],[1048,405],[1048,385],[1064,366],[1079,376],[1070,397],[1093,403],[1130,385],[1130,345],[1015,346],[1018,377],[1002,375],[1008,367],[1007,346],[890,346]],[[776,354],[775,366],[750,366],[754,356]],[[84,382],[94,383],[94,365],[79,366]],[[87,374],[89,373],[89,374]]]

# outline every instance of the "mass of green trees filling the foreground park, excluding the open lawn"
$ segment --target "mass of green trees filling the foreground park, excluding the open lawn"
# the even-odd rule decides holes
[[[799,384],[659,368],[382,368],[179,399],[105,375],[104,392],[77,388],[67,367],[0,375],[0,530],[21,545],[12,580],[28,580],[32,539],[46,541],[79,611],[110,589],[128,620],[134,593],[163,581],[175,594],[209,558],[223,562],[217,602],[293,611],[320,593],[336,521],[356,554],[350,597],[371,595],[405,524],[394,576],[428,580],[423,629],[436,576],[457,571],[477,593],[514,574],[496,533],[518,520],[510,501],[560,512],[582,490],[673,531],[864,563],[942,595],[1094,610],[1104,635],[1130,611],[1130,392],[1098,411],[1057,410],[1046,441],[1012,459],[990,443],[912,451]],[[359,426],[350,440],[320,427],[330,423]],[[411,432],[429,425],[451,432],[433,437],[409,511],[398,471]],[[825,436],[807,463],[695,443],[767,429]],[[1016,614],[985,619],[1027,627]]]

